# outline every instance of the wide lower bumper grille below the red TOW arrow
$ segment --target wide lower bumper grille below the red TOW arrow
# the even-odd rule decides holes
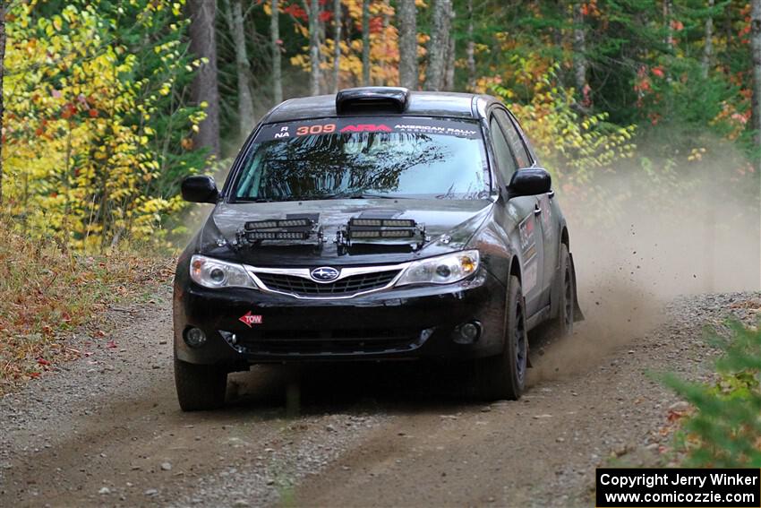
[[[253,354],[321,355],[410,351],[422,341],[409,329],[272,330],[241,334],[239,344]]]

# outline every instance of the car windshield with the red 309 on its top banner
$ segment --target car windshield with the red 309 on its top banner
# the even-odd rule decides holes
[[[475,122],[331,118],[264,125],[233,200],[483,199],[489,170]]]

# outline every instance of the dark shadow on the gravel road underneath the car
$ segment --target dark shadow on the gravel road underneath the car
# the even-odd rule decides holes
[[[551,343],[547,331],[532,333],[532,349]],[[541,361],[532,355],[534,364]],[[287,416],[357,411],[440,412],[484,401],[474,397],[474,366],[465,362],[337,362],[253,366],[228,377],[225,411],[281,409]],[[282,417],[282,413],[278,415]]]

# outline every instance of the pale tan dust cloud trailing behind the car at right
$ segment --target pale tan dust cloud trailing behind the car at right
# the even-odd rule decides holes
[[[539,340],[532,383],[598,364],[663,323],[675,297],[761,288],[761,180],[727,159],[666,175],[631,162],[595,177],[588,200],[560,196],[586,320],[567,340]]]

